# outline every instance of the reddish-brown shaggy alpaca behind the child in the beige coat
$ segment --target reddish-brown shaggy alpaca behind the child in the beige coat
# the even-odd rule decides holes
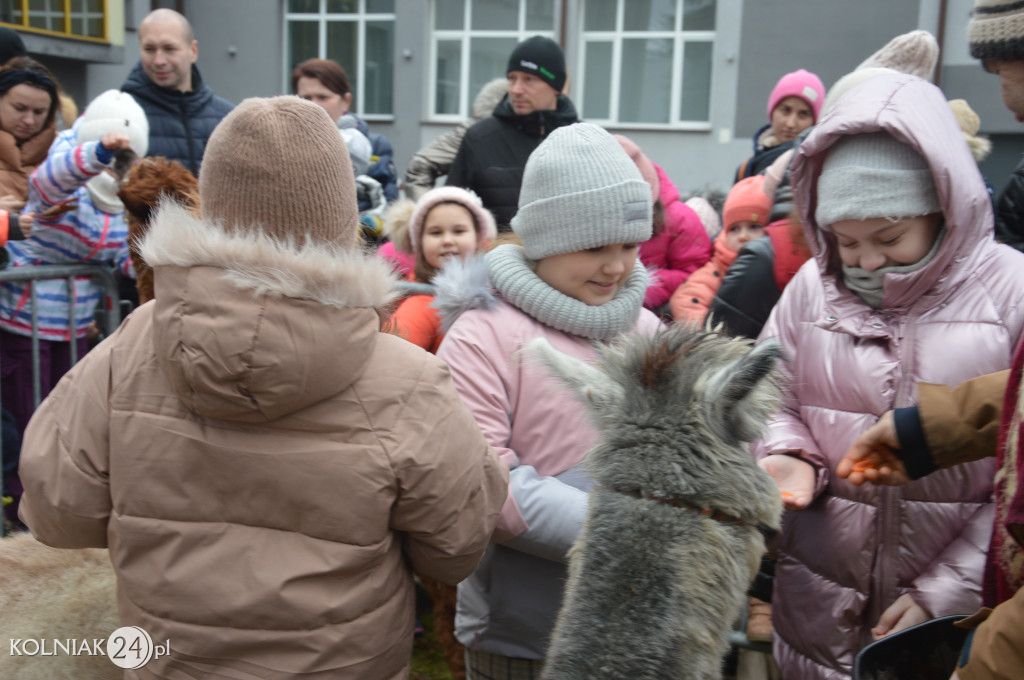
[[[162,197],[169,197],[194,212],[199,212],[199,182],[177,161],[163,157],[144,158],[128,170],[121,180],[118,197],[128,213],[128,245],[135,267],[138,303],[153,299],[153,269],[138,252],[138,244],[150,228],[150,218]]]

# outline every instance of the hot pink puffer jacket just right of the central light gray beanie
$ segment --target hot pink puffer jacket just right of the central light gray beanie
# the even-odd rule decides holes
[[[657,179],[665,206],[665,230],[640,245],[640,261],[654,270],[643,306],[665,304],[679,285],[711,259],[711,241],[700,218],[679,200],[679,189],[660,167]]]

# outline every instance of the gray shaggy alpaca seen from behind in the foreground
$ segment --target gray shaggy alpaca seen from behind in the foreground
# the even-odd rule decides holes
[[[679,325],[603,346],[594,366],[545,340],[529,350],[601,436],[543,677],[721,678],[762,530],[782,512],[748,448],[780,402],[778,344]]]

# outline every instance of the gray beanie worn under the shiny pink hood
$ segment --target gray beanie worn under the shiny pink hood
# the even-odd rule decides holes
[[[855,134],[827,152],[814,219],[822,229],[844,219],[918,217],[941,212],[928,162],[886,132]]]

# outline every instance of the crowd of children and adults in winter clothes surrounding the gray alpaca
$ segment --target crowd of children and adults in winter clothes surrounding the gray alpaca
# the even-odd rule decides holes
[[[133,677],[403,679],[417,583],[455,677],[542,677],[597,435],[522,350],[672,324],[786,357],[751,452],[786,514],[745,631],[781,677],[849,678],[983,606],[950,676],[1024,674],[1021,170],[993,199],[931,34],[827,89],[782,74],[718,196],[581,121],[549,38],[402,178],[340,65],[232,105],[184,16],[138,33],[79,116],[0,32],[5,266],[153,270],[98,343],[90,280],[0,283],[6,520],[110,548],[122,624],[172,641]],[[1024,9],[976,0],[968,33],[1024,120]],[[145,157],[198,196],[130,232]]]

